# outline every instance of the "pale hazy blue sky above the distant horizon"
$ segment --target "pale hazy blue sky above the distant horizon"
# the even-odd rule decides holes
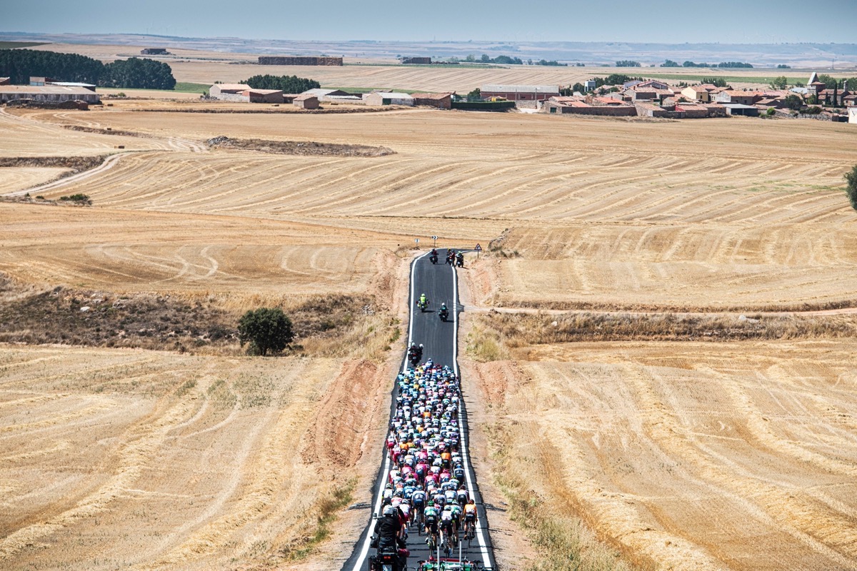
[[[4,4],[0,9],[3,32],[303,40],[857,43],[857,0],[13,0]],[[812,15],[814,9],[818,15]]]

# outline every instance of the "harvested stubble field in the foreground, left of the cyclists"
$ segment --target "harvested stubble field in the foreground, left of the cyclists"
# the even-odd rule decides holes
[[[4,569],[294,568],[386,413],[367,361],[5,347],[0,371]]]

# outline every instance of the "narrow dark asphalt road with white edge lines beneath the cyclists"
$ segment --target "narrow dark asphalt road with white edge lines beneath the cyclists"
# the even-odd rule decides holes
[[[414,260],[411,265],[411,294],[409,300],[411,319],[405,348],[411,342],[417,344],[423,343],[423,361],[428,359],[434,360],[434,363],[440,366],[451,366],[458,373],[458,277],[451,265],[443,263],[443,260],[446,258],[446,250],[438,250],[438,253],[440,254],[440,259],[437,265],[429,262],[428,253]],[[426,312],[421,312],[416,306],[416,300],[420,294],[426,294],[428,297],[429,306]],[[441,321],[437,314],[440,304],[444,302],[450,310],[450,318],[446,322]],[[405,366],[407,366],[407,362],[403,357],[403,369]],[[393,384],[393,397],[395,397],[398,389],[395,387],[395,383],[392,382],[391,384]],[[488,516],[485,514],[482,494],[479,492],[476,482],[476,473],[470,465],[467,410],[464,407],[464,399],[467,392],[466,379],[462,379],[461,384],[462,399],[461,408],[458,413],[459,425],[462,431],[460,451],[464,460],[464,467],[467,471],[465,482],[467,483],[470,496],[476,499],[476,506],[479,512],[479,528],[476,532],[476,538],[470,542],[470,545],[467,542],[463,542],[461,558],[471,562],[481,562],[484,568],[494,569],[496,568],[494,546],[491,543],[488,533]],[[393,398],[393,405],[394,403],[395,398]],[[391,407],[391,413],[393,413],[393,407]],[[386,448],[380,460],[381,468],[373,485],[371,513],[367,515],[367,526],[357,541],[351,556],[345,562],[342,568],[343,571],[365,571],[369,569],[369,556],[375,553],[375,550],[369,548],[369,537],[371,528],[375,525],[375,517],[380,513],[381,489],[387,483],[390,471],[390,458],[387,455]],[[411,570],[417,569],[419,562],[426,561],[429,558],[425,536],[417,532],[417,526],[411,526],[409,529],[408,550],[411,551],[411,556],[408,558],[408,568]],[[451,559],[457,561],[458,553],[455,553]],[[458,566],[451,564],[446,566],[446,568],[457,569]]]

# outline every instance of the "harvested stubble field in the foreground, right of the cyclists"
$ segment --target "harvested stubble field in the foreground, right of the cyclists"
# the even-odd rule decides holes
[[[542,518],[574,514],[644,568],[844,570],[855,349],[578,343],[468,369],[494,472]]]

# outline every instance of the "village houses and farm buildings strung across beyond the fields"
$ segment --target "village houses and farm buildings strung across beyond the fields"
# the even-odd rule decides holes
[[[153,53],[153,49],[141,52]],[[162,51],[159,53],[169,53]],[[425,60],[425,61],[423,61]],[[431,65],[430,58],[405,58],[404,64]],[[341,66],[341,57],[259,57],[261,65]],[[446,63],[446,62],[444,62]],[[607,80],[622,75],[610,75]],[[650,117],[663,119],[704,119],[709,117],[751,116],[800,118],[857,124],[857,92],[831,88],[813,72],[806,84],[796,81],[790,88],[733,89],[725,81],[670,85],[662,80],[627,79],[615,85],[593,78],[574,86],[482,85],[466,94],[457,92],[405,92],[313,88],[300,93],[259,89],[248,83],[215,82],[201,96],[206,101],[248,104],[293,105],[300,110],[321,110],[322,105],[363,105],[369,107],[428,107],[439,110],[509,111],[567,116]],[[113,97],[109,95],[108,97]],[[16,101],[17,100],[17,101]],[[29,86],[9,85],[0,78],[0,103],[39,102],[86,109],[99,104],[96,86],[31,77]]]

